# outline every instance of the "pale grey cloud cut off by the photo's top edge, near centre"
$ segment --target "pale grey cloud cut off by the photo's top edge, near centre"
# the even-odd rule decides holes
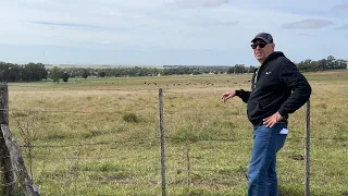
[[[228,3],[229,0],[176,0],[175,4],[184,9],[211,8]]]

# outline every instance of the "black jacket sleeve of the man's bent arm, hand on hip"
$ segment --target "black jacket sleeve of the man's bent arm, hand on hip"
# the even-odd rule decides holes
[[[309,100],[312,88],[307,78],[290,61],[286,61],[283,65],[281,81],[293,91],[278,110],[282,117],[286,117],[288,113],[298,110]]]

